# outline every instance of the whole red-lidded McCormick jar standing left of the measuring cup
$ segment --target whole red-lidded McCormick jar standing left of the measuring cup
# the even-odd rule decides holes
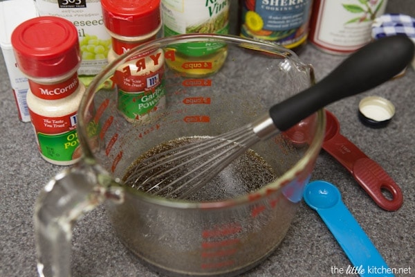
[[[17,66],[28,78],[27,104],[42,157],[59,166],[81,157],[77,109],[85,91],[77,77],[75,26],[60,17],[24,21],[12,33]]]

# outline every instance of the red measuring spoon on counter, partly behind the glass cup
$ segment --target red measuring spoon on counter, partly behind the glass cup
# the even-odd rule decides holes
[[[396,211],[403,204],[403,195],[398,184],[385,172],[376,161],[367,157],[349,139],[340,134],[340,123],[330,111],[326,112],[326,134],[322,148],[347,168],[351,175],[374,202],[386,211]],[[305,134],[308,121],[295,125],[284,132],[295,144],[308,141]],[[384,192],[391,195],[391,199]]]

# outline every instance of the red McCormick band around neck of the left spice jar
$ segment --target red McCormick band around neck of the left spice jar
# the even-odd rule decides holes
[[[71,78],[68,78],[64,82],[59,82],[57,84],[39,84],[32,80],[28,81],[30,91],[32,91],[35,96],[46,100],[57,100],[70,96],[80,85],[77,73],[73,74]]]

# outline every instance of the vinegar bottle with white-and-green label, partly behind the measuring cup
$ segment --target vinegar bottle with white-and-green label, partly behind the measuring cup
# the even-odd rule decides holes
[[[230,0],[162,0],[164,36],[187,33],[229,33]],[[183,75],[201,77],[215,73],[228,55],[225,44],[187,42],[172,45],[174,60],[167,65]]]

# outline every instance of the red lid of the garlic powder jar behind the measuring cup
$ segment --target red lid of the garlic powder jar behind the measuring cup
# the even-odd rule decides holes
[[[112,33],[139,37],[161,24],[160,0],[101,0],[104,25]]]

